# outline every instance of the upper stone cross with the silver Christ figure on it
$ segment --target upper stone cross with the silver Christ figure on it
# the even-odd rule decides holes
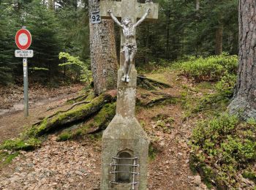
[[[158,18],[158,4],[148,0],[146,4],[140,4],[137,0],[105,0],[100,1],[99,6],[102,18],[112,18],[121,27],[120,69],[123,71],[121,80],[128,83],[137,52],[135,29],[143,20]],[[121,23],[118,18],[121,19]]]

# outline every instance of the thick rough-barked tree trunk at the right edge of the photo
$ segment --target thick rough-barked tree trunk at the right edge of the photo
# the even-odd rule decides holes
[[[230,113],[256,119],[256,1],[239,1],[239,66]]]

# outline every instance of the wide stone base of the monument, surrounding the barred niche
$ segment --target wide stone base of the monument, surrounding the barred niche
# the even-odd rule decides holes
[[[133,186],[134,189],[146,190],[148,144],[146,132],[135,117],[124,118],[116,114],[102,137],[101,189],[128,190],[132,189],[131,182],[138,182]],[[135,175],[134,180],[127,183],[110,183],[110,181],[118,182],[115,180],[115,174],[110,173],[113,172],[110,163],[113,162],[113,157],[118,156],[122,151],[129,152],[132,157],[138,157],[139,166],[136,167],[136,172],[139,172],[139,175]]]

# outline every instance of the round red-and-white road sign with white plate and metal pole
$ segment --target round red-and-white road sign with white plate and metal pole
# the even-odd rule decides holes
[[[34,56],[33,50],[27,50],[31,45],[30,32],[23,26],[15,36],[15,42],[20,50],[15,50],[15,57],[23,58],[23,81],[24,81],[24,111],[25,117],[29,116],[29,70],[28,58]]]

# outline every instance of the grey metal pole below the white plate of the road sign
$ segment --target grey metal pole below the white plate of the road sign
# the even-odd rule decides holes
[[[24,79],[24,111],[25,117],[29,116],[29,80],[28,80],[28,58],[23,58],[23,79]]]

